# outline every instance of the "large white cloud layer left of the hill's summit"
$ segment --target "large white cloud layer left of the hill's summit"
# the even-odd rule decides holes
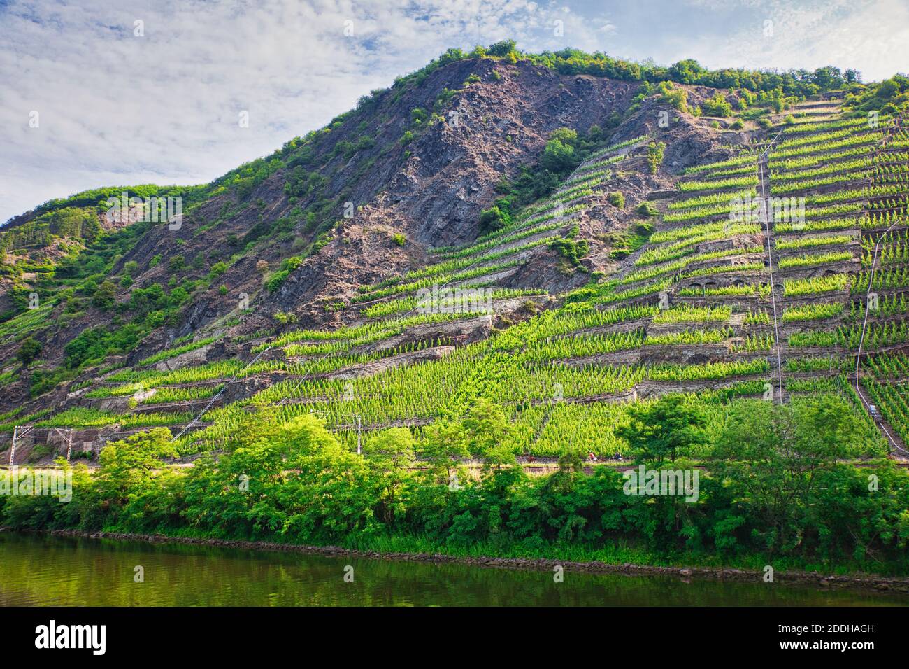
[[[536,43],[556,14],[521,0],[14,0],[0,7],[0,221],[84,188],[205,182],[449,46]],[[579,18],[566,35],[593,33]]]

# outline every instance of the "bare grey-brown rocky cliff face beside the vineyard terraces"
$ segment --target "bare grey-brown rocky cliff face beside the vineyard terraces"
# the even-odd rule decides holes
[[[178,315],[144,335],[125,360],[134,364],[194,335],[248,340],[256,332],[280,332],[276,312],[290,315],[296,327],[362,320],[351,307],[361,287],[425,267],[431,248],[477,238],[481,210],[500,195],[496,186],[536,165],[560,127],[582,133],[594,125],[610,128],[613,142],[659,135],[666,143],[664,167],[648,174],[637,147],[611,187],[624,192],[625,207],[599,193],[574,217],[576,238],[590,246],[586,272],[566,267],[545,244],[524,253],[498,285],[558,293],[584,284],[590,271],[614,270],[615,236],[634,227],[634,207],[647,193],[672,188],[674,174],[686,166],[728,154],[709,128],[676,118],[653,97],[629,113],[637,91],[632,82],[481,58],[441,66],[417,84],[374,96],[264,161],[259,176],[215,181],[185,207],[178,229],[152,225],[122,250],[107,276],[97,277],[114,280],[118,304],[155,284],[191,289]],[[693,90],[691,96],[712,93]],[[659,127],[660,111],[673,117],[670,127]],[[11,225],[33,218],[26,214]],[[266,289],[287,258],[300,259],[279,286]],[[129,282],[121,280],[127,269]],[[25,283],[41,290],[38,279]],[[115,329],[131,318],[94,301],[84,300],[83,307],[67,314],[58,301],[42,316],[32,336],[42,345],[46,370],[64,363],[66,344],[81,332]],[[0,351],[0,369],[16,369],[16,350]],[[28,386],[25,375],[7,383],[9,401],[0,403],[0,412],[24,400]],[[38,403],[54,404],[62,392]]]

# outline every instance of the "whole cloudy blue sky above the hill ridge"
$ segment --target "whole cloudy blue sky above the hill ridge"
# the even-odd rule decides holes
[[[909,0],[0,0],[0,222],[86,188],[205,183],[505,38],[875,81],[909,72]]]

